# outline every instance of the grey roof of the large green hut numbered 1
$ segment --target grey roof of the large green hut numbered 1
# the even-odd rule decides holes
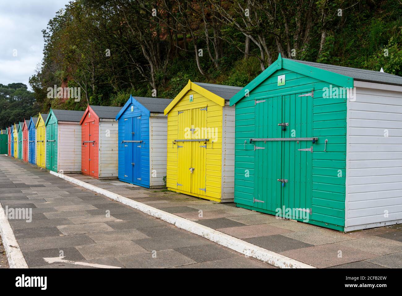
[[[373,83],[382,83],[382,84],[402,86],[402,77],[396,76],[393,74],[389,74],[389,73],[357,69],[357,68],[349,68],[349,67],[343,67],[343,66],[327,65],[327,64],[321,64],[321,63],[306,62],[306,61],[301,61],[301,60],[294,60],[294,61],[302,63],[302,64],[306,64],[308,66],[313,66],[313,67],[327,70],[330,72],[338,73],[341,75],[353,77],[353,79],[357,80],[357,81],[366,81],[366,82],[373,82]]]

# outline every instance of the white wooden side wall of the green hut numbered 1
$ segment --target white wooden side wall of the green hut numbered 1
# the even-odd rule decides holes
[[[355,87],[347,103],[345,231],[402,222],[402,87]]]

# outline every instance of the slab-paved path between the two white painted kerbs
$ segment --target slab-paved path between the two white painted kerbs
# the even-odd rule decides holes
[[[4,155],[0,203],[32,209],[31,222],[9,217],[29,267],[273,268]]]

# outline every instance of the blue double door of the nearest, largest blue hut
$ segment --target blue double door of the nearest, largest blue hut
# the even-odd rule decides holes
[[[125,118],[125,179],[141,182],[141,116]]]

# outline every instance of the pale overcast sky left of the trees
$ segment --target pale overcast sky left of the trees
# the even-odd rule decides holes
[[[68,0],[0,0],[0,83],[22,82],[29,87],[28,79],[43,58],[41,31],[67,3]]]

